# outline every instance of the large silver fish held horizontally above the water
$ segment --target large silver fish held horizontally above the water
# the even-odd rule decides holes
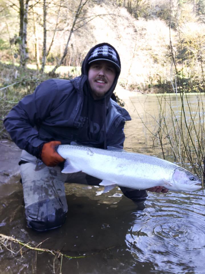
[[[85,172],[101,179],[100,185],[107,190],[114,186],[133,189],[164,186],[173,191],[201,188],[201,180],[191,172],[153,156],[78,145],[60,145],[57,152],[66,159],[63,173]]]

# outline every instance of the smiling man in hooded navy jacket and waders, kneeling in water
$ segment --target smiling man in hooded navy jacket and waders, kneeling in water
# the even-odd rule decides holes
[[[56,146],[74,141],[123,148],[124,123],[131,118],[111,99],[120,70],[116,49],[98,44],[85,57],[81,76],[42,82],[5,118],[5,128],[22,149],[19,164],[28,227],[45,231],[62,225],[67,213],[65,182],[101,182],[82,172],[62,174],[64,159]],[[147,197],[145,190],[121,190],[135,202]],[[162,187],[150,190],[160,192]]]

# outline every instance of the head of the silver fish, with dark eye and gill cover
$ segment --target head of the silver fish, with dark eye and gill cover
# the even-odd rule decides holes
[[[201,180],[184,168],[175,168],[173,173],[173,190],[192,191],[200,189]]]

